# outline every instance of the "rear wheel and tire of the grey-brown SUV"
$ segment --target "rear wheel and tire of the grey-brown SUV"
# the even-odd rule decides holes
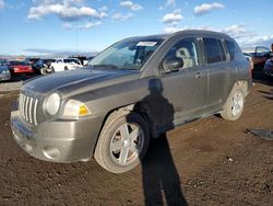
[[[227,121],[237,121],[240,118],[245,106],[244,88],[235,84],[228,99],[221,112],[221,116]]]

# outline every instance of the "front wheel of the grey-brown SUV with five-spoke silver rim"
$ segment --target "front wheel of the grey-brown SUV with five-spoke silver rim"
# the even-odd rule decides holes
[[[99,135],[95,159],[109,172],[127,172],[140,163],[149,145],[147,123],[141,115],[128,111],[115,112]]]

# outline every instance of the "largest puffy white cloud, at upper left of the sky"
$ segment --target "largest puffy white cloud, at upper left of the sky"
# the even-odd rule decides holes
[[[37,0],[36,0],[37,1]],[[63,0],[62,4],[57,3],[55,0],[39,0],[41,4],[37,7],[32,7],[29,9],[28,19],[41,19],[49,14],[56,14],[63,21],[80,21],[83,19],[103,19],[107,14],[105,12],[99,12],[90,7],[76,7],[70,5],[70,3],[78,4],[82,0]]]

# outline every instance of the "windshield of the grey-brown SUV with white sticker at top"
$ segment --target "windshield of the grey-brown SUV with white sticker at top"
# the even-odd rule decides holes
[[[162,42],[163,38],[126,39],[94,57],[88,66],[140,70]]]

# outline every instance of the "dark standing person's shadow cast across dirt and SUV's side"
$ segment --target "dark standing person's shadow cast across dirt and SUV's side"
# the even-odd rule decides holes
[[[163,95],[164,88],[159,79],[151,79],[149,90],[150,94],[141,102],[149,105],[150,125],[154,125],[154,130],[162,135],[152,140],[142,161],[145,205],[185,206],[188,204],[166,137],[166,131],[174,128],[174,106]]]

